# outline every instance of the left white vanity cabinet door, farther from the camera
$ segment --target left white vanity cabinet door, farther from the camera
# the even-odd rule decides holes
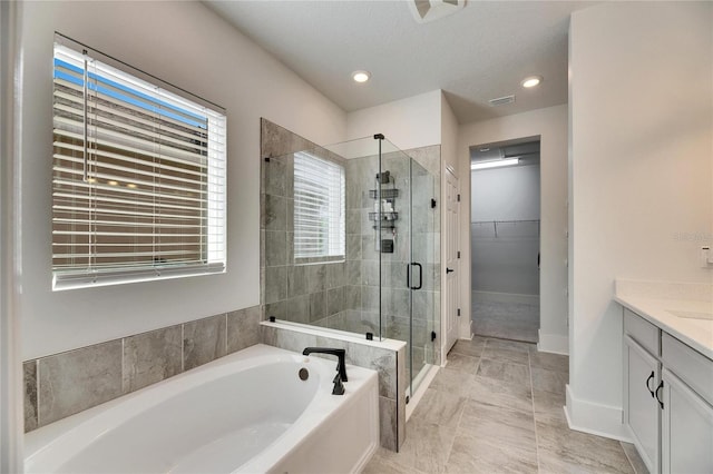
[[[658,385],[658,361],[626,336],[624,346],[624,416],[634,444],[652,473],[658,472],[658,402],[652,396]]]

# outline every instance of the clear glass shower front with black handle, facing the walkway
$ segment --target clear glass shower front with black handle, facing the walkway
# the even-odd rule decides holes
[[[391,149],[387,140],[375,180],[382,216],[375,241],[381,250],[381,325],[384,337],[407,342],[410,395],[424,368],[437,359],[438,192],[433,175],[403,151]]]

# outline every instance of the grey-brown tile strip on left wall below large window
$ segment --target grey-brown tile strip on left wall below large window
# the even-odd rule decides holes
[[[25,431],[257,344],[261,318],[253,306],[27,361]]]

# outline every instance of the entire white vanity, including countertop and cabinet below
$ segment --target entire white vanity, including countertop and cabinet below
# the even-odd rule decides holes
[[[652,473],[713,473],[711,285],[617,280],[624,423]]]

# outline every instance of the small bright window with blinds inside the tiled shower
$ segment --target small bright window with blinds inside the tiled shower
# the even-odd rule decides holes
[[[344,259],[344,167],[294,155],[294,257],[297,263]]]

